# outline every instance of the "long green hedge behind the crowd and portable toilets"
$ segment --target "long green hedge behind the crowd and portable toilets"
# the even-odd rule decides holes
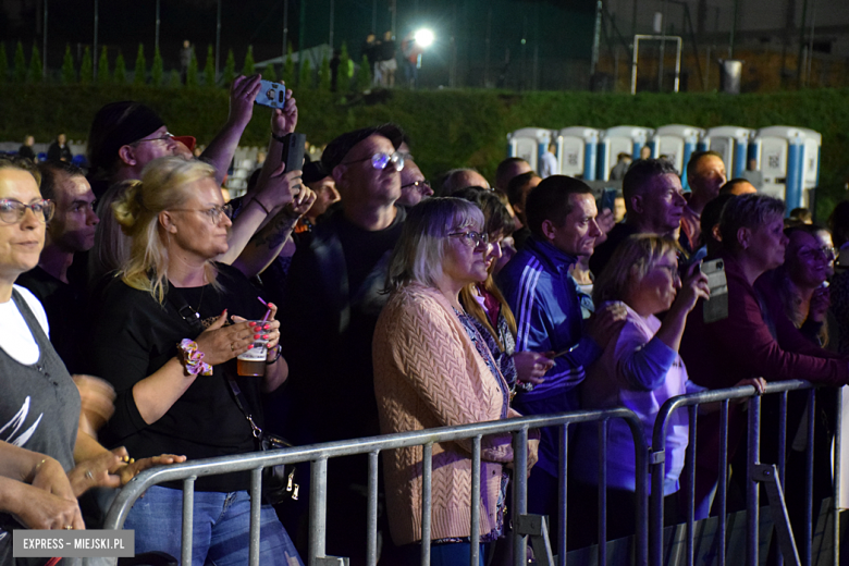
[[[823,134],[821,190],[823,218],[842,198],[849,177],[849,89],[725,96],[678,94],[637,96],[591,93],[510,94],[494,90],[381,91],[347,99],[321,91],[296,93],[299,130],[310,143],[325,144],[342,132],[393,121],[413,139],[417,162],[428,175],[472,165],[494,176],[504,157],[506,134],[524,126],[559,128],[622,124],[657,127],[739,125],[810,127]],[[51,139],[59,130],[72,139],[88,135],[102,104],[144,101],[159,111],[171,132],[208,143],[226,120],[227,95],[221,89],[186,90],[151,86],[0,85],[0,139]],[[257,108],[243,145],[264,146],[269,112]]]

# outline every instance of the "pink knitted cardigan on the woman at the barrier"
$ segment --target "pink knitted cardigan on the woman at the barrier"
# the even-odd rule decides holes
[[[394,293],[372,344],[382,433],[501,418],[502,389],[438,291],[411,283]],[[508,417],[518,416],[508,409]],[[487,436],[481,448],[480,533],[487,534],[497,525],[502,464],[513,460],[510,436]],[[470,452],[471,441],[433,445],[434,540],[469,536]],[[537,441],[531,441],[529,466],[536,459]],[[398,545],[421,540],[421,462],[420,446],[383,453],[390,528]]]

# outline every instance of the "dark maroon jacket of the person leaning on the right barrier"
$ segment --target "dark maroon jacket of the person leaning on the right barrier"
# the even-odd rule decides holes
[[[700,299],[687,318],[680,355],[690,380],[722,389],[743,379],[763,377],[767,381],[804,379],[814,383],[841,385],[849,379],[849,362],[822,349],[802,336],[784,316],[776,293],[762,293],[760,285],[746,280],[739,263],[729,255],[725,260],[728,280],[728,318],[710,324],[702,317]],[[746,431],[745,405],[728,407],[728,457],[736,452]],[[697,504],[718,477],[718,411],[700,416],[697,451]]]

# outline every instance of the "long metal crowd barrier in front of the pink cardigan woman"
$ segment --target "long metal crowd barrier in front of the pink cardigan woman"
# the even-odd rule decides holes
[[[167,481],[183,480],[183,543],[182,564],[192,564],[192,524],[195,480],[204,476],[230,473],[234,471],[251,472],[250,477],[250,546],[249,564],[259,565],[259,513],[262,468],[281,464],[295,464],[310,462],[311,482],[309,494],[309,555],[305,561],[309,566],[341,565],[344,564],[337,557],[325,556],[325,525],[327,525],[327,471],[328,459],[355,454],[369,455],[369,484],[368,484],[368,540],[367,561],[370,566],[377,564],[378,557],[378,457],[383,451],[407,446],[423,446],[422,466],[422,517],[421,517],[421,564],[430,564],[430,528],[431,528],[431,472],[432,447],[434,443],[452,442],[457,440],[472,440],[472,501],[470,539],[470,564],[478,565],[479,561],[479,526],[480,526],[480,481],[481,481],[481,439],[491,434],[510,433],[514,447],[514,470],[526,470],[528,458],[528,431],[541,427],[561,427],[561,478],[559,478],[559,537],[557,564],[566,564],[566,495],[567,495],[567,465],[568,460],[568,434],[570,424],[581,422],[599,422],[600,440],[602,448],[606,445],[606,430],[604,422],[612,418],[622,418],[628,424],[635,443],[636,463],[636,526],[633,556],[635,564],[648,565],[648,460],[649,454],[642,428],[637,416],[629,409],[619,407],[607,410],[585,410],[564,413],[559,415],[522,417],[492,422],[465,424],[459,427],[445,427],[428,429],[415,432],[404,432],[355,439],[343,442],[315,444],[310,446],[295,446],[279,451],[257,452],[238,456],[207,458],[174,466],[152,468],[139,473],[127,483],[118,494],[107,514],[104,529],[121,529],[130,509],[136,500],[148,488]],[[602,476],[600,479],[599,497],[599,564],[606,564],[606,540],[604,524],[606,517],[604,473],[606,460],[604,450],[600,451]],[[527,545],[529,536],[539,564],[553,562],[552,551],[549,544],[545,521],[539,516],[527,515],[527,473],[516,471],[513,475],[513,564],[514,566],[527,563]]]

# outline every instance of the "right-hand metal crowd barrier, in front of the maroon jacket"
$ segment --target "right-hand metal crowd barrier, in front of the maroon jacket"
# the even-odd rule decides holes
[[[805,481],[804,489],[804,522],[803,532],[800,538],[800,545],[797,547],[793,540],[792,529],[787,516],[787,508],[784,500],[785,489],[785,462],[787,446],[787,394],[790,391],[807,390],[807,442],[805,442]],[[726,539],[727,539],[727,445],[728,445],[728,404],[734,399],[748,401],[748,430],[747,430],[747,534],[746,534],[746,564],[756,566],[759,564],[759,483],[766,487],[770,507],[772,510],[775,529],[778,538],[777,564],[784,562],[793,565],[811,566],[812,561],[812,500],[813,500],[813,450],[814,450],[814,427],[815,427],[815,389],[807,381],[780,381],[766,385],[763,395],[777,394],[779,399],[779,422],[778,430],[778,455],[776,464],[762,464],[760,462],[760,440],[761,440],[761,396],[755,395],[753,386],[730,387],[724,390],[711,390],[701,393],[692,393],[669,398],[661,407],[653,431],[653,442],[651,454],[649,456],[652,471],[652,495],[650,506],[653,510],[653,524],[651,526],[650,556],[652,566],[662,566],[664,559],[663,546],[663,479],[664,479],[664,451],[666,445],[666,428],[668,419],[677,409],[687,407],[689,413],[689,441],[687,444],[687,462],[685,467],[686,478],[682,478],[684,485],[681,491],[687,497],[687,537],[686,555],[687,565],[694,564],[694,477],[696,468],[692,466],[697,448],[696,426],[698,422],[697,411],[700,405],[706,403],[721,404],[721,448],[719,448],[719,477],[717,481],[716,502],[718,505],[718,528],[716,531],[715,544],[717,546],[717,563],[724,566],[726,561]],[[834,494],[830,512],[833,514],[833,537],[834,537],[834,562],[835,566],[839,564],[839,509],[838,502],[840,497],[840,409],[838,396],[837,420],[835,422],[835,448],[834,448]],[[765,434],[764,434],[765,435]],[[738,450],[743,450],[742,444]],[[777,471],[777,476],[776,476]],[[793,487],[796,489],[796,487]],[[763,561],[761,561],[762,563]]]

